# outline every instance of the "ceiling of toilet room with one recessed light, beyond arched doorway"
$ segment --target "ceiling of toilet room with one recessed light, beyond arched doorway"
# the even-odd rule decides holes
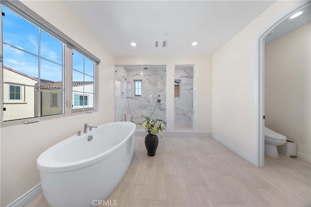
[[[273,29],[270,35],[265,38],[265,44],[269,44],[270,42],[273,42],[274,40],[280,38],[283,35],[293,32],[294,30],[311,21],[311,4],[300,9],[299,11],[303,12],[300,16],[293,19],[286,18],[282,22],[280,22],[280,24],[278,24]]]

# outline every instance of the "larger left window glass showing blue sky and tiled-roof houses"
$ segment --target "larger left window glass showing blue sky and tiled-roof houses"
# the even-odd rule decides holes
[[[62,107],[51,109],[58,102],[51,93],[64,90],[64,44],[6,7],[1,10],[3,89],[9,87],[8,101],[21,100],[21,86],[25,87],[23,104],[3,100],[3,121],[62,114]]]

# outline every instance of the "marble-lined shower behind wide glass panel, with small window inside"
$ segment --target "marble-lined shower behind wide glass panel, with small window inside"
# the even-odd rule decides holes
[[[141,129],[141,115],[166,118],[166,66],[115,67],[115,120],[132,121]]]

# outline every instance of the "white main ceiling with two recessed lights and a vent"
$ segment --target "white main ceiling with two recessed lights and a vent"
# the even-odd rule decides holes
[[[211,55],[275,1],[62,2],[114,56],[154,56]],[[168,40],[167,47],[155,48],[155,39]]]

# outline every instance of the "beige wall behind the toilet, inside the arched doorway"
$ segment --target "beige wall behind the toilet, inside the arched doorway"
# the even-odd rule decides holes
[[[311,23],[265,47],[265,126],[311,159]]]

